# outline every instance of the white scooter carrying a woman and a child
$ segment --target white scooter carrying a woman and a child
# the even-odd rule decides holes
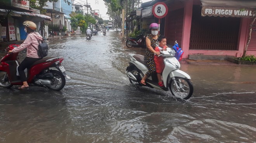
[[[156,44],[156,46],[158,46]],[[126,68],[126,75],[129,77],[131,84],[148,86],[151,88],[171,91],[173,96],[189,99],[193,94],[193,85],[190,76],[180,70],[180,62],[175,58],[175,50],[167,48],[166,51],[160,51],[159,56],[164,58],[164,70],[162,73],[164,86],[158,85],[156,73],[148,77],[146,85],[140,83],[142,77],[148,71],[144,63],[144,56],[138,54],[128,54],[130,56],[130,66]]]

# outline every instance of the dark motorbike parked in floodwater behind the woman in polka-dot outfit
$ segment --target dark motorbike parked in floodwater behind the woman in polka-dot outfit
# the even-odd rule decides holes
[[[131,47],[146,47],[145,36],[143,34],[138,35],[136,38],[127,37],[126,46]]]

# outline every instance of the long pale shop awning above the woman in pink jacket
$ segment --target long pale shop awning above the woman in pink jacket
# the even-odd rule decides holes
[[[48,20],[48,21],[51,21],[52,18],[46,16],[46,15],[42,15],[42,14],[38,14],[38,13],[31,13],[31,12],[18,12],[18,11],[15,11],[15,10],[5,10],[5,9],[0,9],[0,15],[4,14],[6,15],[7,13],[9,13],[10,15],[12,16],[15,16],[15,17],[21,17],[21,15],[28,15],[28,16],[32,16],[32,17],[41,17],[41,18],[44,18],[45,20]]]

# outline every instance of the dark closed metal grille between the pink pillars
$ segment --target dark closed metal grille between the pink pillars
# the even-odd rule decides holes
[[[201,6],[194,5],[189,49],[237,50],[240,18],[201,16]]]

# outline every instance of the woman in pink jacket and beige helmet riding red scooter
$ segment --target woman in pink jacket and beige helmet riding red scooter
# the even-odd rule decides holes
[[[39,40],[43,40],[42,36],[38,32],[35,32],[36,24],[34,22],[24,21],[23,25],[25,25],[24,31],[28,34],[27,38],[19,47],[14,48],[13,50],[9,50],[9,53],[17,53],[27,48],[27,55],[18,67],[20,79],[23,82],[23,85],[19,87],[20,90],[29,87],[24,69],[29,68],[34,62],[42,59],[38,56],[37,50]]]

